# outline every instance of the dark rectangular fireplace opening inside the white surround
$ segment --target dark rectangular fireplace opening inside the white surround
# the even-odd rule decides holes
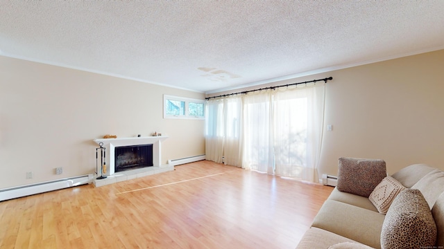
[[[115,147],[114,172],[153,166],[153,145]]]

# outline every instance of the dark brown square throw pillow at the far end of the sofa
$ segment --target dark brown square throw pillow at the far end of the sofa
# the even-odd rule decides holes
[[[339,158],[336,188],[342,192],[368,197],[387,176],[386,162],[379,159]]]

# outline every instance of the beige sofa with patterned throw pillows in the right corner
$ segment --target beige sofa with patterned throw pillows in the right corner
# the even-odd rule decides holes
[[[378,210],[381,206],[376,207],[369,197],[372,195],[375,197],[377,191],[379,191],[379,197],[388,195],[391,189],[387,186],[384,187],[383,183],[388,181],[390,176],[384,177],[382,181],[377,180],[379,181],[377,186],[370,186],[370,190],[373,188],[370,196],[352,194],[350,192],[359,189],[359,186],[354,185],[365,184],[362,177],[373,178],[379,173],[368,172],[368,170],[373,170],[373,163],[375,163],[370,162],[370,166],[367,165],[369,167],[363,173],[361,172],[361,176],[357,176],[354,181],[347,180],[345,179],[347,177],[341,177],[341,166],[343,172],[346,172],[348,169],[344,170],[344,168],[348,165],[343,162],[341,165],[341,159],[347,161],[350,158],[340,158],[338,185],[316,215],[311,228],[302,237],[297,246],[298,249],[444,248],[443,171],[428,165],[417,164],[405,167],[391,175],[392,179],[405,188],[401,187],[398,193],[392,191],[391,203],[385,201],[384,205],[386,205],[387,211],[386,214],[383,214]],[[353,170],[359,169],[358,172],[361,171],[359,163],[354,166]],[[351,173],[351,175],[355,175],[354,172]],[[364,179],[364,181],[366,180]],[[339,191],[341,181],[346,181],[352,191],[347,189],[347,192]],[[421,199],[421,196],[427,203]],[[420,226],[420,228],[418,229],[416,226]],[[431,238],[434,242],[424,242],[427,239],[431,241]]]

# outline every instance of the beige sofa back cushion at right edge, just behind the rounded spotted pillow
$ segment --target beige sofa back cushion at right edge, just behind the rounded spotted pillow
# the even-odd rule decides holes
[[[444,172],[434,169],[415,183],[411,188],[420,190],[430,209],[432,209],[438,196],[444,192]]]

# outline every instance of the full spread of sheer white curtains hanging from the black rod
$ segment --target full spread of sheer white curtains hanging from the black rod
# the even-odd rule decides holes
[[[206,157],[316,182],[325,83],[207,102]]]

